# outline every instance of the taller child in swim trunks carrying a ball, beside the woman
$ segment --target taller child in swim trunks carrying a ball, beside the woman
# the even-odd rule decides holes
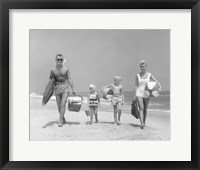
[[[114,84],[110,84],[106,86],[107,88],[111,88],[113,91],[112,96],[112,105],[114,109],[114,121],[117,125],[120,124],[121,114],[122,114],[122,105],[124,102],[124,95],[122,90],[122,85],[120,84],[121,77],[120,76],[114,76]],[[118,119],[117,119],[117,113],[118,113]]]

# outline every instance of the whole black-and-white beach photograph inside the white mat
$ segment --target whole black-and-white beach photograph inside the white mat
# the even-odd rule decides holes
[[[170,141],[170,29],[30,29],[30,141]]]

